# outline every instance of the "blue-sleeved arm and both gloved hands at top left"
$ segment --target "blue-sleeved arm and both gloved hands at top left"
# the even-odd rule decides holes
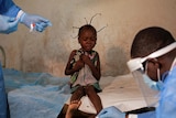
[[[12,0],[0,0],[0,33],[8,34],[16,31],[19,22],[29,29],[33,24],[34,30],[38,32],[52,25],[50,20],[41,15],[25,13]]]

